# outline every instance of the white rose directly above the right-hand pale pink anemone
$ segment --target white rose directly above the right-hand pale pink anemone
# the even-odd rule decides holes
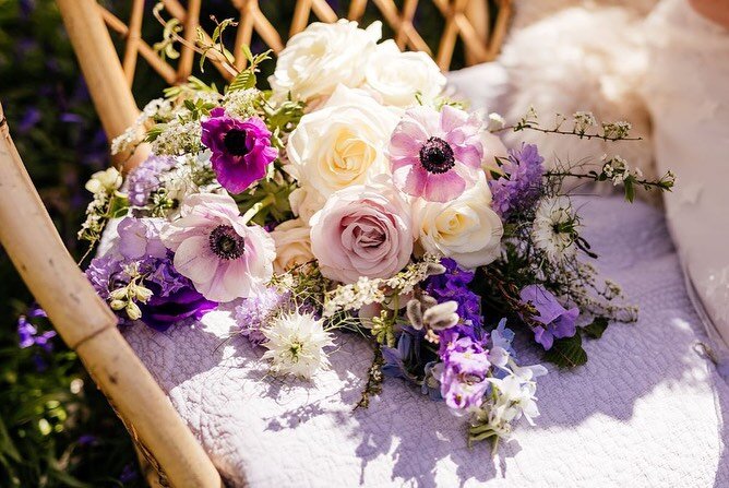
[[[385,105],[410,107],[416,93],[432,100],[445,86],[445,76],[425,52],[399,50],[394,40],[378,45],[367,63],[366,86],[379,93]]]

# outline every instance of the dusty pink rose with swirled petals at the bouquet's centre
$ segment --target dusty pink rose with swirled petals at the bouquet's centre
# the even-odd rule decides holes
[[[390,185],[352,186],[335,192],[310,221],[311,250],[324,276],[355,283],[389,278],[413,253],[410,216]]]

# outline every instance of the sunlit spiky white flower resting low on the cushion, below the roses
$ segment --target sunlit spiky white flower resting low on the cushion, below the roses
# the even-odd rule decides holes
[[[313,314],[284,313],[262,332],[266,337],[263,346],[268,349],[263,359],[271,360],[273,372],[311,378],[330,366],[324,347],[334,345],[333,336]]]

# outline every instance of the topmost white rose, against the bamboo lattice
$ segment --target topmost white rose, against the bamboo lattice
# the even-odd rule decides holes
[[[291,93],[303,102],[330,95],[340,83],[357,87],[380,37],[380,22],[366,29],[346,20],[313,23],[291,37],[278,55],[268,79],[271,87],[279,97]]]

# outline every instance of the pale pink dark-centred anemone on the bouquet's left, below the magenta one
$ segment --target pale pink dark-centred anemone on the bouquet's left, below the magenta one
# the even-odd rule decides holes
[[[263,228],[246,225],[230,195],[190,195],[180,215],[162,239],[175,251],[175,269],[205,298],[231,301],[265,287],[276,258],[274,240]]]

